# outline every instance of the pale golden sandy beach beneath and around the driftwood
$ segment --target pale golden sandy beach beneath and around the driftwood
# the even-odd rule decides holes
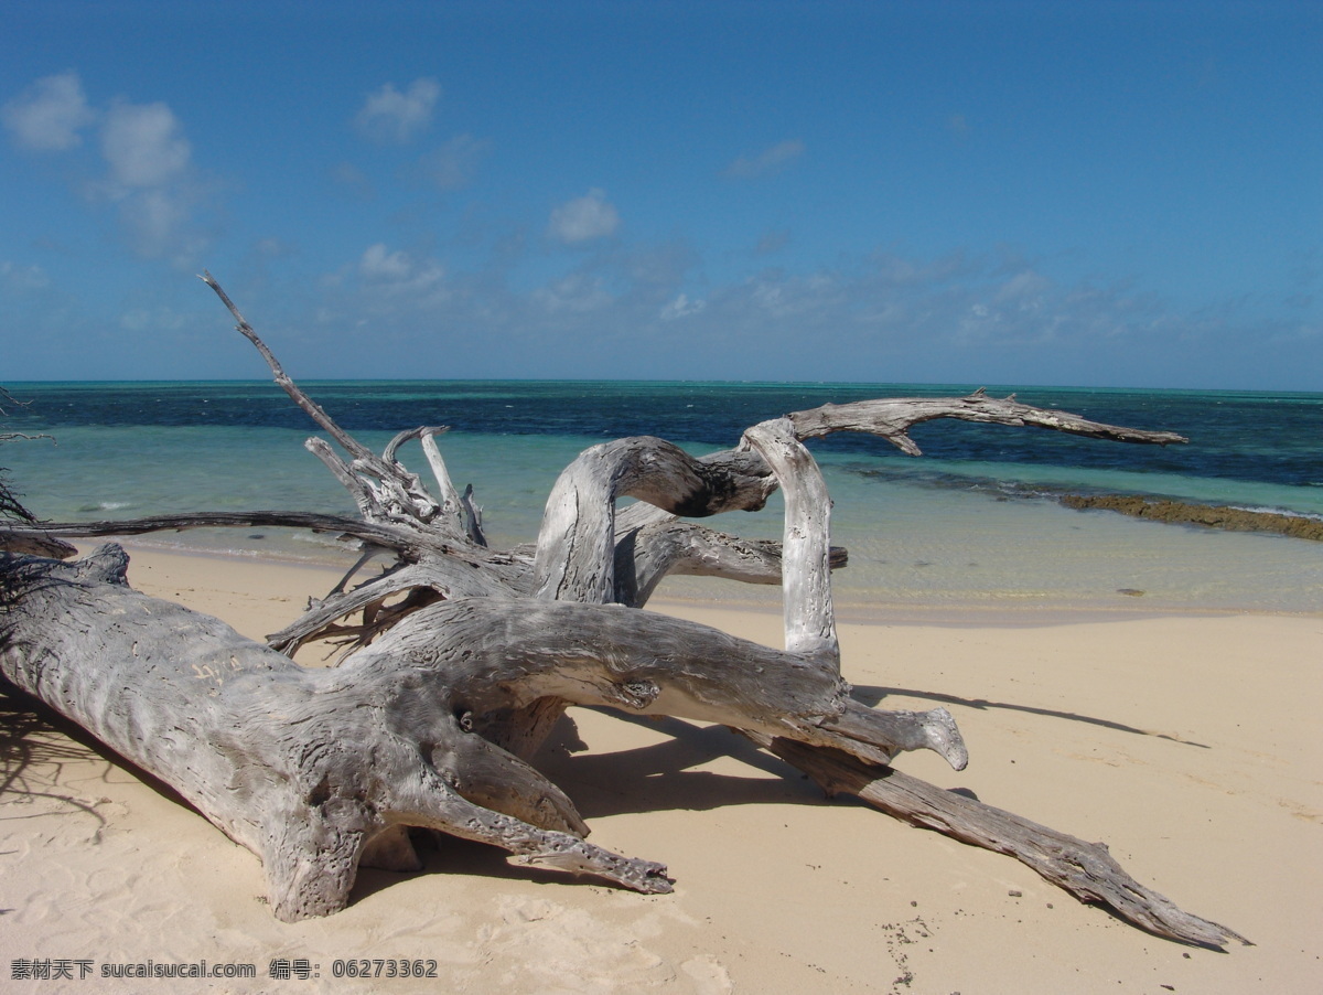
[[[261,638],[333,572],[135,550],[149,594]],[[771,611],[659,610],[779,644]],[[364,871],[353,904],[278,922],[257,859],[160,786],[12,700],[0,797],[4,991],[1308,992],[1323,990],[1323,617],[1060,615],[841,626],[856,695],[946,705],[967,770],[897,766],[1085,839],[1256,945],[1148,935],[1009,857],[910,828],[722,728],[576,709],[541,766],[599,845],[660,860],[669,896],[447,842],[422,873]],[[582,741],[582,744],[579,742]],[[434,979],[333,976],[435,962]],[[17,961],[70,962],[21,980]],[[257,978],[114,980],[118,963]],[[81,963],[91,976],[79,980]],[[288,979],[270,971],[290,966]],[[308,978],[300,978],[306,969]]]

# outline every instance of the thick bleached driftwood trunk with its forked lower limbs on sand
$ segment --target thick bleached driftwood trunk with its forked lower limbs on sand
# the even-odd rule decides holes
[[[791,654],[620,606],[438,602],[344,666],[314,670],[131,590],[127,562],[102,546],[74,564],[5,564],[21,610],[5,619],[0,670],[262,857],[284,920],[343,908],[373,840],[407,864],[392,830],[411,826],[669,890],[662,865],[583,843],[564,793],[476,734],[479,717],[548,695],[873,762],[919,746],[962,759],[942,711],[873,712]]]

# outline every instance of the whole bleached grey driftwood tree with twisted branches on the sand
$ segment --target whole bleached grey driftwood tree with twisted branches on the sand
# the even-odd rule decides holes
[[[841,677],[831,570],[831,501],[804,439],[865,431],[917,454],[916,423],[957,418],[1167,445],[1181,437],[1048,411],[976,392],[827,405],[750,427],[696,459],[662,439],[586,450],[561,475],[531,548],[495,550],[471,488],[450,482],[443,427],[401,433],[376,455],[314,404],[209,277],[277,381],[341,447],[308,449],[355,496],[359,519],[299,512],[19,525],[9,549],[60,536],[198,525],[335,532],[363,558],[267,646],[217,619],[128,587],[114,545],[77,562],[0,562],[0,672],[172,785],[263,864],[282,920],[343,908],[363,863],[417,867],[411,828],[505,848],[527,861],[665,892],[665,868],[585,842],[568,795],[529,759],[568,704],[720,722],[914,824],[1012,853],[1085,901],[1174,939],[1242,939],[1144,889],[1101,844],[1046,830],[893,770],[930,749],[967,754],[950,713],[886,712]],[[429,491],[398,460],[417,441]],[[754,542],[689,519],[758,508],[782,490],[783,541]],[[617,513],[617,499],[639,503]],[[373,557],[385,569],[357,580]],[[695,573],[783,586],[785,647],[769,648],[642,610],[658,581]],[[337,667],[290,655],[341,648]]]

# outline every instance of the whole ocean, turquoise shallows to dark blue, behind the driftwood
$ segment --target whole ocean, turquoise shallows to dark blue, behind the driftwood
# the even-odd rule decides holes
[[[380,451],[448,425],[442,454],[472,483],[492,544],[529,542],[557,474],[586,446],[659,435],[695,454],[779,414],[869,397],[963,396],[978,385],[585,381],[312,381],[302,385]],[[11,384],[0,430],[52,439],[0,449],[46,520],[188,511],[355,513],[303,449],[315,427],[270,382]],[[1136,494],[1323,519],[1323,394],[996,388],[1025,404],[1187,435],[1151,447],[954,421],[917,426],[921,458],[864,435],[811,443],[833,499],[843,613],[987,609],[1323,611],[1323,546],[1062,507],[1065,494]],[[402,458],[425,479],[417,443]],[[708,520],[779,537],[781,503]],[[325,536],[279,529],[157,533],[161,548],[340,564]],[[131,576],[131,574],[130,574]],[[663,595],[775,602],[773,587],[671,578]]]

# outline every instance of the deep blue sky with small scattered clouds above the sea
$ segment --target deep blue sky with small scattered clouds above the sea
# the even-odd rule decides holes
[[[3,7],[3,381],[1323,390],[1323,4]]]

